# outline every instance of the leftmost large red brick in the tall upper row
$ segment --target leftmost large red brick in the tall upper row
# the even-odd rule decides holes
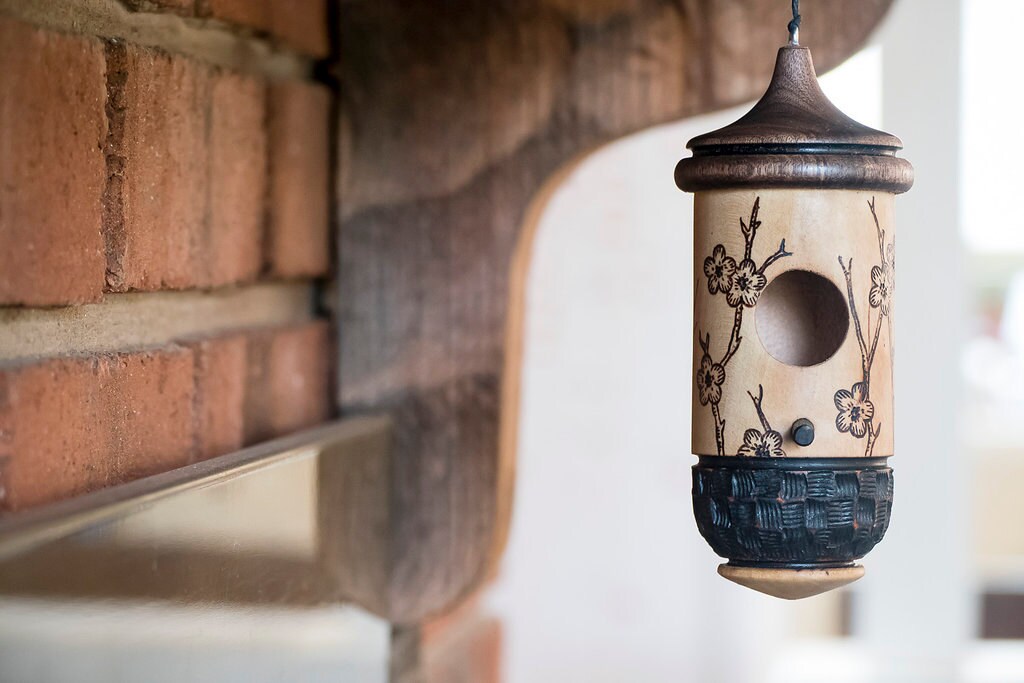
[[[0,17],[0,304],[103,288],[102,45]]]

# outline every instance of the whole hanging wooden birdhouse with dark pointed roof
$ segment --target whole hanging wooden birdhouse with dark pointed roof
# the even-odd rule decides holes
[[[793,25],[762,99],[687,146],[697,526],[723,577],[807,597],[859,579],[889,524],[893,200],[913,170],[828,101]]]

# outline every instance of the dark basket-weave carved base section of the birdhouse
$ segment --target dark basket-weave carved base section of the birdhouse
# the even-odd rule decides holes
[[[733,565],[850,565],[885,536],[892,500],[885,458],[701,456],[693,466],[697,528]]]

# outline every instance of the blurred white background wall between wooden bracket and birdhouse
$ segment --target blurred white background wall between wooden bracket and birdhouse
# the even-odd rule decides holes
[[[727,584],[690,508],[691,121],[588,160],[543,218],[527,292],[517,500],[494,604],[508,683],[751,680],[778,605]],[[742,615],[737,621],[736,616]],[[737,628],[737,623],[739,624]]]

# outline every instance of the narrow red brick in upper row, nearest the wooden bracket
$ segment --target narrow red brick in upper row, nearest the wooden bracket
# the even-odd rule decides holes
[[[269,97],[267,268],[282,278],[323,275],[331,263],[329,92],[278,84]]]

